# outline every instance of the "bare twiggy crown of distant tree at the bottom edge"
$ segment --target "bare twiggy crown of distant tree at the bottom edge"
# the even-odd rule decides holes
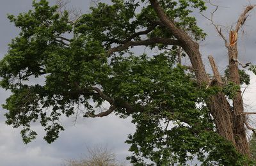
[[[88,157],[82,160],[67,160],[63,166],[122,166],[116,162],[115,154],[106,147],[88,148]]]

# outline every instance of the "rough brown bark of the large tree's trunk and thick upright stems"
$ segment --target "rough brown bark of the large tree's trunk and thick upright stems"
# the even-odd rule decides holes
[[[180,41],[180,46],[188,54],[193,67],[193,71],[195,71],[198,84],[202,85],[209,83],[210,79],[205,72],[198,43],[193,41],[188,36],[188,34],[186,34],[186,32],[182,31],[182,29],[175,26],[172,18],[168,18],[165,15],[157,0],[150,0],[150,3],[156,11],[160,21],[172,32],[175,38]],[[237,31],[239,30],[239,27],[243,25],[245,19],[247,18],[246,13],[252,10],[253,7],[250,6],[246,8],[246,10],[244,10],[244,12],[241,14],[239,20],[237,21],[235,31],[232,31],[233,33],[230,33],[232,34],[232,36],[230,36],[232,43],[231,45],[226,45],[228,49],[230,81],[234,82],[237,85],[240,85],[239,70],[237,62],[234,61],[234,59],[237,59]],[[236,33],[235,36],[234,33]],[[219,74],[215,73],[215,76],[217,76],[218,80],[220,80]],[[221,93],[213,96],[211,100],[207,103],[207,105],[211,110],[212,117],[214,118],[217,132],[222,137],[230,140],[234,144],[234,146],[236,146],[237,150],[240,153],[244,155],[249,155],[248,140],[246,139],[246,128],[244,127],[244,123],[246,121],[243,116],[244,110],[241,92],[237,92],[236,97],[233,100],[233,107],[230,106],[230,103],[228,103],[225,95]]]

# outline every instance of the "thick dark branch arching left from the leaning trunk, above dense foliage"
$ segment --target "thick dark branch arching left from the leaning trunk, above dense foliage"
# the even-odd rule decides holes
[[[170,38],[150,38],[148,40],[140,40],[140,41],[128,41],[124,43],[124,45],[120,45],[118,47],[114,47],[108,50],[108,56],[113,54],[114,52],[120,52],[122,50],[126,50],[131,46],[138,46],[138,45],[154,45],[156,43],[166,44],[166,45],[180,45],[179,40],[173,40]]]

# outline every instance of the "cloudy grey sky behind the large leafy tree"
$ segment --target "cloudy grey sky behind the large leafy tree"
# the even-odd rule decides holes
[[[54,0],[50,1],[54,4]],[[239,14],[243,11],[244,6],[250,3],[256,3],[255,0],[215,0],[212,1],[220,5],[214,20],[216,24],[221,24],[230,29],[234,26]],[[80,8],[83,11],[88,11],[90,6],[89,0],[72,0],[69,4],[74,8]],[[6,18],[6,14],[10,13],[17,15],[20,12],[25,12],[31,9],[31,0],[1,0],[0,6],[0,59],[8,50],[8,43],[19,34],[19,29],[13,26]],[[212,8],[209,8],[211,11]],[[208,14],[209,14],[208,11]],[[207,13],[205,13],[207,15]],[[205,41],[200,42],[202,58],[205,61],[205,68],[211,72],[210,65],[207,60],[208,55],[212,55],[218,64],[221,73],[227,66],[227,50],[224,47],[223,40],[214,31],[210,22],[198,13],[199,26],[205,29],[208,34]],[[239,60],[252,62],[256,64],[255,47],[256,47],[256,10],[250,13],[250,17],[244,26],[244,33],[239,36]],[[223,29],[225,33],[225,29]],[[226,33],[227,36],[228,33]],[[186,59],[184,60],[186,63]],[[250,73],[252,75],[252,73]],[[244,103],[247,111],[255,111],[256,103],[256,77],[252,75],[251,85],[244,93]],[[10,93],[0,89],[0,103],[4,103]],[[120,161],[125,160],[125,156],[129,155],[129,145],[124,141],[129,133],[135,130],[131,119],[119,119],[115,115],[102,118],[78,118],[74,123],[74,117],[63,117],[62,123],[65,126],[65,131],[60,133],[60,138],[52,144],[47,144],[43,140],[44,130],[39,124],[33,124],[33,128],[38,133],[36,140],[30,144],[24,145],[20,137],[20,129],[13,129],[12,126],[4,124],[5,117],[3,110],[0,108],[0,165],[3,166],[46,166],[46,165],[61,165],[63,160],[79,159],[86,155],[87,148],[93,146],[108,146]],[[253,118],[251,118],[253,119]],[[127,165],[129,165],[127,163]]]

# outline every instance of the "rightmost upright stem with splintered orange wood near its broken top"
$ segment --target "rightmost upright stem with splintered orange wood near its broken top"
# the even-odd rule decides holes
[[[240,76],[239,76],[239,68],[237,61],[237,32],[243,26],[247,14],[250,10],[254,8],[255,5],[247,6],[243,13],[239,16],[237,20],[236,29],[230,31],[230,45],[227,47],[228,49],[228,70],[229,70],[229,80],[234,82],[237,86],[240,86]],[[236,59],[236,61],[234,61]],[[237,150],[244,154],[250,156],[248,140],[246,137],[246,128],[244,128],[244,124],[246,124],[246,119],[244,117],[244,105],[243,105],[243,97],[241,91],[237,91],[236,96],[233,98],[233,132],[234,137],[236,138],[236,147]]]

